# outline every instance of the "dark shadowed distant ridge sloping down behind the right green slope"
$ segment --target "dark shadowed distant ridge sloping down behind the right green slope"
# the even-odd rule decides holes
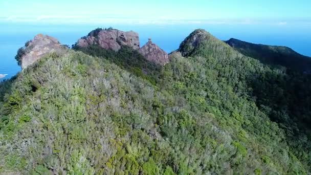
[[[234,38],[226,43],[243,55],[256,58],[266,64],[276,67],[281,65],[305,73],[311,71],[311,57],[301,55],[288,47],[259,45]]]

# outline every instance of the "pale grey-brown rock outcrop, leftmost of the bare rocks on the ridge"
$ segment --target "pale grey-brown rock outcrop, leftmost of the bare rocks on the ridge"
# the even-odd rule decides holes
[[[66,48],[56,38],[38,34],[33,40],[27,42],[21,50],[23,50],[23,55],[20,57],[20,65],[21,68],[25,69],[48,53],[63,54]]]

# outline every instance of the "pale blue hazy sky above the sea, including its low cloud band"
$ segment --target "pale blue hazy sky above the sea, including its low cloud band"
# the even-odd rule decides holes
[[[310,0],[0,0],[0,21],[57,24],[310,25],[310,8]]]

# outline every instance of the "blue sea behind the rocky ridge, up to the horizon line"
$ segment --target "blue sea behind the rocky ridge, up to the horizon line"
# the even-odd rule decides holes
[[[14,76],[20,71],[14,56],[18,48],[42,33],[56,37],[62,44],[72,45],[80,37],[98,27],[108,25],[25,25],[0,24],[0,74]],[[141,46],[151,37],[166,52],[176,50],[194,29],[202,28],[221,40],[231,37],[253,43],[287,46],[296,52],[311,56],[311,27],[287,25],[130,25],[113,28],[139,33]]]

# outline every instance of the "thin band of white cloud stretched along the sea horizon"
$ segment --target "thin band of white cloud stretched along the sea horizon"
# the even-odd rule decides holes
[[[288,25],[287,21],[259,19],[188,19],[167,16],[127,16],[120,15],[29,15],[0,16],[0,22],[27,24],[106,24],[106,25]],[[307,21],[299,22],[307,24]],[[291,22],[291,24],[293,24]]]

